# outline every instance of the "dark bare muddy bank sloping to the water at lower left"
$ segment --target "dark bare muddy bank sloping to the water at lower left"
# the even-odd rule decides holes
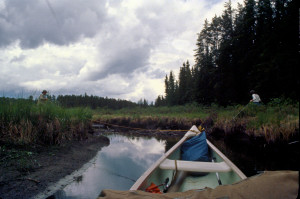
[[[26,151],[30,156],[16,156],[1,161],[0,198],[31,198],[80,169],[107,145],[108,138],[88,135],[85,140],[72,141],[60,147],[19,148],[18,150]]]

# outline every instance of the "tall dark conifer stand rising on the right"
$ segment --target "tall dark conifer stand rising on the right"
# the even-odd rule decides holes
[[[245,0],[205,20],[195,65],[165,77],[156,106],[247,103],[250,90],[271,98],[299,99],[298,6],[295,0]]]

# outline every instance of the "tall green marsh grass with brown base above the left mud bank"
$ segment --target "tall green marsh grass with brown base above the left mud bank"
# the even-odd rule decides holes
[[[12,144],[61,144],[83,139],[92,118],[88,108],[63,108],[55,103],[0,98],[0,141]]]

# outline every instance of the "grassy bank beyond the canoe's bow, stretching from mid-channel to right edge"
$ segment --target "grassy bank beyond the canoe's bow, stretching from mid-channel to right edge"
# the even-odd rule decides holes
[[[299,133],[299,102],[274,99],[266,105],[254,104],[205,107],[196,104],[176,107],[137,107],[133,109],[98,109],[93,120],[133,128],[189,129],[192,124],[208,130],[226,132],[243,128],[249,135],[263,136],[267,141],[288,140]]]

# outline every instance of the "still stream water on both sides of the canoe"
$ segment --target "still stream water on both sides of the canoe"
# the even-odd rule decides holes
[[[128,190],[144,171],[178,141],[178,137],[168,140],[118,134],[109,134],[107,137],[110,139],[110,145],[98,152],[92,164],[88,164],[80,174],[72,176],[71,180],[65,183],[67,186],[49,198],[95,199],[103,189]],[[291,150],[291,147],[296,147],[294,145],[288,145],[285,150],[275,147],[278,151],[272,156],[270,153],[273,153],[273,150],[270,149],[268,153],[264,152],[267,150],[265,148],[257,148],[255,152],[249,150],[252,152],[249,153],[248,149],[243,151],[241,148],[234,151],[222,141],[215,144],[248,177],[264,170],[297,170],[299,165],[298,158],[295,158],[299,157],[299,151],[296,148]],[[291,158],[289,154],[292,154]]]

